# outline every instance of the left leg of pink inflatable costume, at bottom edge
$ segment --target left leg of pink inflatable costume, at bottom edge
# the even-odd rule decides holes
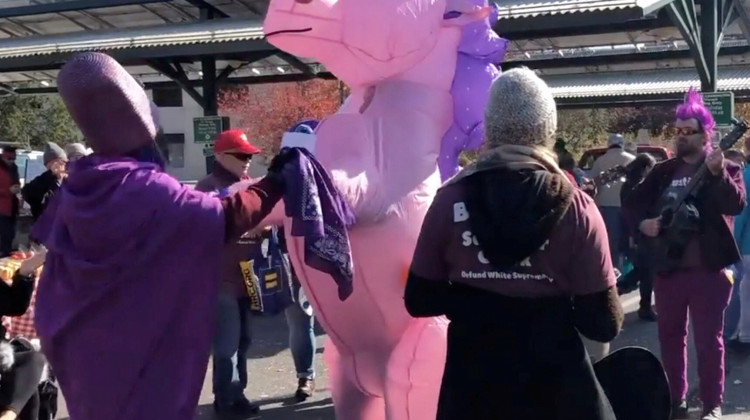
[[[331,340],[326,342],[323,358],[328,367],[328,387],[331,390],[336,418],[342,420],[385,420],[383,398],[362,392],[352,380],[354,372],[347,371],[347,369],[354,369],[354,361],[342,356]]]

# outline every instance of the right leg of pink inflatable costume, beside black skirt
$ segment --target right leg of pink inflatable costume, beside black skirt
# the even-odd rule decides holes
[[[448,320],[414,319],[388,361],[388,420],[435,420],[447,348]]]

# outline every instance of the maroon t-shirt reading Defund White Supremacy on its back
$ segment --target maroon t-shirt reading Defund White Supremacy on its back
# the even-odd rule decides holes
[[[576,190],[547,242],[515,267],[499,271],[471,233],[460,184],[438,191],[427,212],[411,271],[513,297],[587,295],[615,284],[607,231],[594,201]]]

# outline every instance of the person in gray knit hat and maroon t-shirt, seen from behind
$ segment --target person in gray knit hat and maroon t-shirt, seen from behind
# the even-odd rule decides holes
[[[622,307],[592,199],[552,153],[550,89],[519,68],[492,85],[485,149],[427,211],[405,289],[447,315],[438,420],[614,420],[581,344],[611,341]]]

